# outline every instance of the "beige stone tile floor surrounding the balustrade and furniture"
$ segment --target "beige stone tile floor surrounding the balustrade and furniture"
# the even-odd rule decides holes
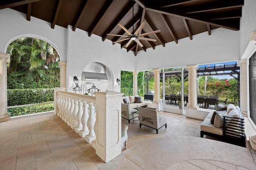
[[[201,120],[168,112],[158,134],[128,123],[128,149],[104,163],[92,146],[53,113],[0,123],[0,170],[256,169],[256,152],[200,138]]]

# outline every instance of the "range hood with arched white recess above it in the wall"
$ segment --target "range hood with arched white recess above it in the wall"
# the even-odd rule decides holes
[[[88,64],[82,72],[81,79],[83,81],[108,81],[106,66],[98,62]]]

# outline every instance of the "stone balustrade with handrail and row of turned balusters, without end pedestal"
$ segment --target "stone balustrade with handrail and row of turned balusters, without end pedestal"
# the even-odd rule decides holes
[[[88,143],[96,139],[94,124],[96,121],[96,97],[56,90],[54,111]],[[60,91],[58,91],[60,90]],[[63,89],[62,89],[63,90]]]

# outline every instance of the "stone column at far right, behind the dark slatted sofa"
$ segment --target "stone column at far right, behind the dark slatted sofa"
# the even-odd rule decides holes
[[[238,60],[240,66],[240,109],[247,117],[247,59]]]

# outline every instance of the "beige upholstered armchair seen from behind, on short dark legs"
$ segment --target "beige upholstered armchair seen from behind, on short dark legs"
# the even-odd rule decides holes
[[[167,127],[166,117],[158,115],[157,110],[139,107],[139,119],[140,127],[144,125],[156,129],[156,134],[158,134],[158,129],[164,125]]]

